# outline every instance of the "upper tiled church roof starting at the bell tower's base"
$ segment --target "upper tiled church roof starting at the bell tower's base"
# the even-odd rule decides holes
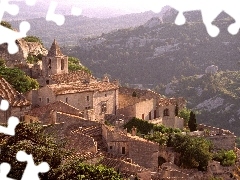
[[[50,79],[52,79],[55,83],[60,84],[66,82],[84,81],[86,79],[92,81],[95,80],[95,77],[85,71],[79,70],[64,74],[54,74],[50,76]]]

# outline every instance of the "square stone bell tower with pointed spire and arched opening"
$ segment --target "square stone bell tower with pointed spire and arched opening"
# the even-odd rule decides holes
[[[68,57],[62,54],[54,39],[47,56],[42,58],[42,75],[48,77],[63,73],[68,73]]]

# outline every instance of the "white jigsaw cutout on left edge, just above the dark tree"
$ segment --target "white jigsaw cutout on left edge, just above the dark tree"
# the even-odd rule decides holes
[[[6,135],[15,135],[15,128],[19,124],[19,119],[17,117],[8,118],[8,127],[0,126],[0,133],[4,133]]]

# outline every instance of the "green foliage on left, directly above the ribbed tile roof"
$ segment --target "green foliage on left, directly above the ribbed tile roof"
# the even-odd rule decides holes
[[[30,78],[18,68],[6,67],[2,59],[0,60],[0,76],[20,93],[39,88],[39,84],[35,79]]]

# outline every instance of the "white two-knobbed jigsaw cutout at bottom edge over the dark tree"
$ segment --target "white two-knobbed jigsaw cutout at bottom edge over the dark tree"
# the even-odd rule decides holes
[[[24,151],[18,151],[16,158],[20,162],[27,162],[26,168],[24,170],[21,180],[39,180],[38,173],[46,173],[49,171],[50,167],[48,163],[42,162],[39,165],[35,165],[33,157]]]

